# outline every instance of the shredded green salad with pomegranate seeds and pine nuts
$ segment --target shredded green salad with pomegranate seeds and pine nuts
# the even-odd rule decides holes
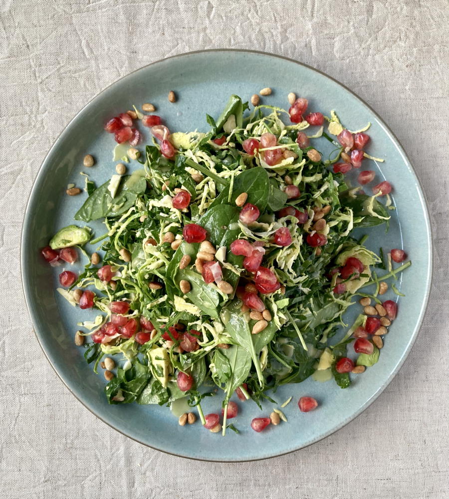
[[[106,124],[117,142],[117,173],[101,186],[83,174],[76,225],[41,252],[64,265],[58,292],[98,312],[78,323],[75,344],[96,373],[104,369],[109,403],[183,400],[189,409],[181,425],[198,414],[225,435],[238,431],[229,425],[238,413],[234,393],[261,408],[264,399],[275,403],[280,385],[312,376],[347,388],[352,374],[378,362],[397,313],[395,300],[382,300],[387,280],[411,264],[402,263],[403,250],[375,254],[364,246],[370,228],[388,229],[392,187],[384,181],[364,192],[372,170],[354,186],[345,176],[382,161],[364,152],[369,124],[351,132],[335,112],[308,113],[306,99],[289,100],[288,111],[249,110],[232,95],[217,119],[207,116],[207,133],[171,133],[160,116],[135,107]],[[152,138],[136,148],[145,127]],[[328,157],[320,141],[332,144]],[[94,165],[92,156],[84,165]],[[103,234],[80,224],[95,220]],[[360,228],[366,235],[356,239]],[[88,254],[86,244],[96,250]],[[87,263],[78,274],[67,264],[80,254]],[[356,321],[344,324],[358,301]],[[204,415],[207,396],[221,411]],[[298,402],[302,412],[317,405],[313,394]],[[251,427],[259,432],[281,420],[278,408]]]

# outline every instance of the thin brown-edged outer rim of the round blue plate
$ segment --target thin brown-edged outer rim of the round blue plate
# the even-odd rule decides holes
[[[303,446],[300,446],[300,447],[298,447],[296,449],[286,451],[286,452],[276,453],[276,454],[272,454],[272,455],[269,455],[269,456],[263,456],[263,457],[258,457],[258,458],[242,459],[242,460],[201,459],[201,458],[196,458],[196,457],[192,457],[192,456],[188,456],[188,455],[183,455],[183,454],[178,454],[178,453],[170,452],[170,451],[161,449],[159,447],[152,446],[152,445],[150,445],[150,444],[148,444],[146,442],[142,442],[138,438],[135,438],[135,437],[132,437],[132,436],[128,435],[124,431],[119,430],[118,428],[116,428],[115,426],[113,426],[111,423],[105,421],[101,416],[99,416],[98,414],[96,414],[96,412],[94,412],[93,409],[91,409],[85,402],[83,402],[83,400],[81,400],[77,395],[75,395],[75,393],[72,391],[72,389],[70,388],[70,386],[62,378],[62,375],[59,374],[56,366],[53,364],[53,362],[49,358],[47,352],[45,351],[45,349],[43,347],[43,344],[40,341],[40,337],[39,337],[40,336],[40,332],[38,332],[39,328],[37,326],[37,323],[36,323],[36,320],[34,318],[34,315],[31,313],[31,297],[29,296],[29,292],[27,291],[27,284],[25,282],[25,277],[24,277],[24,275],[25,275],[25,271],[24,271],[25,268],[24,267],[26,266],[26,264],[25,264],[25,254],[24,254],[24,246],[25,246],[24,245],[24,241],[25,241],[25,238],[26,238],[26,233],[27,233],[28,224],[29,224],[29,220],[28,220],[29,219],[29,208],[30,208],[30,205],[33,202],[35,196],[36,196],[36,191],[35,191],[34,188],[35,188],[35,185],[37,184],[37,182],[40,180],[41,176],[43,175],[44,166],[47,163],[47,160],[48,160],[49,156],[53,153],[54,150],[57,149],[57,147],[59,146],[59,142],[62,140],[63,135],[65,134],[67,128],[71,125],[71,123],[86,108],[88,108],[91,105],[91,103],[98,96],[100,96],[101,94],[107,92],[108,89],[110,87],[112,87],[113,85],[115,85],[117,82],[119,82],[119,81],[121,81],[121,80],[123,80],[125,78],[128,78],[129,76],[133,75],[134,73],[136,73],[136,72],[138,72],[138,71],[140,71],[140,70],[142,70],[144,68],[147,68],[149,66],[152,66],[154,64],[158,64],[160,62],[163,62],[163,61],[166,61],[166,60],[169,60],[169,59],[176,59],[176,58],[182,58],[182,57],[185,57],[185,56],[188,56],[188,55],[206,54],[206,53],[211,53],[211,52],[224,52],[224,53],[228,53],[228,52],[245,52],[245,53],[262,55],[262,56],[276,57],[276,58],[279,58],[279,59],[286,60],[288,62],[292,62],[294,64],[297,64],[299,66],[303,66],[303,67],[305,67],[305,68],[307,68],[309,70],[312,70],[312,71],[320,74],[321,76],[324,76],[325,78],[328,78],[333,83],[336,83],[338,86],[340,86],[344,90],[346,90],[349,94],[351,94],[351,96],[353,98],[357,99],[362,105],[364,105],[376,117],[376,119],[382,124],[382,126],[384,127],[384,129],[390,134],[390,136],[393,138],[393,140],[395,142],[395,145],[396,145],[398,151],[401,153],[401,155],[402,155],[402,157],[403,157],[406,165],[410,166],[410,171],[411,171],[411,174],[414,176],[414,179],[415,179],[415,182],[416,182],[416,186],[417,186],[417,190],[418,190],[418,194],[419,194],[419,197],[421,198],[422,206],[424,208],[425,224],[426,224],[426,228],[427,228],[427,245],[429,247],[429,263],[428,263],[428,269],[427,269],[427,275],[428,275],[427,289],[426,289],[426,292],[425,292],[424,300],[423,300],[422,305],[421,305],[419,319],[418,319],[418,321],[416,323],[416,326],[414,328],[413,335],[412,335],[412,337],[411,337],[411,339],[409,341],[409,344],[407,345],[407,347],[402,352],[401,357],[400,357],[398,363],[396,364],[396,366],[393,369],[393,371],[391,372],[391,374],[388,376],[387,380],[378,388],[378,390],[376,391],[376,393],[370,399],[368,399],[362,406],[360,406],[360,408],[355,412],[355,414],[350,419],[342,421],[339,425],[337,425],[336,428],[330,430],[329,432],[326,432],[325,434],[321,435],[319,438],[313,439],[310,443],[308,443],[306,445],[303,445]],[[54,140],[52,146],[50,147],[50,149],[46,153],[44,159],[42,160],[42,163],[40,164],[40,166],[39,166],[39,168],[37,170],[37,173],[36,173],[36,175],[35,175],[35,177],[34,177],[34,179],[32,181],[32,186],[31,186],[31,189],[30,189],[30,191],[28,193],[28,198],[27,198],[27,201],[26,201],[25,210],[24,210],[23,219],[22,219],[22,229],[21,229],[21,233],[20,233],[20,248],[19,248],[19,253],[20,253],[20,276],[21,276],[20,282],[21,282],[21,288],[22,288],[22,293],[23,293],[24,299],[25,299],[26,308],[28,310],[28,315],[29,315],[29,317],[31,319],[31,323],[32,323],[34,335],[35,335],[35,337],[37,339],[37,342],[39,343],[39,346],[40,346],[40,348],[41,348],[41,350],[42,350],[45,358],[47,359],[47,361],[49,362],[49,364],[53,368],[53,370],[56,373],[56,375],[58,376],[58,378],[62,381],[62,383],[65,385],[65,387],[69,390],[69,392],[88,411],[90,411],[96,418],[98,418],[99,420],[101,420],[103,423],[105,423],[106,425],[108,425],[113,430],[117,431],[118,433],[124,435],[125,437],[127,437],[127,438],[129,438],[129,439],[131,439],[131,440],[133,440],[135,442],[138,442],[141,445],[144,445],[144,446],[149,447],[151,449],[154,449],[154,450],[157,450],[157,451],[160,451],[160,452],[163,452],[165,454],[172,455],[172,456],[176,456],[176,457],[180,457],[180,458],[185,458],[185,459],[191,459],[191,460],[194,460],[194,461],[213,462],[213,463],[247,463],[247,462],[253,462],[253,461],[262,461],[262,460],[265,460],[265,459],[273,459],[273,458],[276,458],[276,457],[279,457],[279,456],[285,456],[287,454],[291,454],[293,452],[300,451],[300,450],[305,449],[305,448],[307,448],[307,447],[309,447],[309,446],[311,446],[313,444],[316,444],[317,442],[320,442],[321,440],[329,437],[330,435],[333,435],[337,431],[341,430],[344,426],[346,426],[347,424],[349,424],[351,421],[354,421],[364,411],[366,411],[368,409],[368,407],[370,407],[371,404],[373,404],[373,402],[385,391],[385,389],[387,388],[387,386],[396,377],[396,375],[398,374],[398,372],[400,371],[400,369],[404,365],[404,362],[406,361],[407,357],[409,356],[409,354],[410,354],[410,352],[411,352],[411,350],[412,350],[412,348],[413,348],[413,346],[414,346],[414,344],[415,344],[415,342],[416,342],[416,340],[418,338],[418,335],[419,335],[419,333],[421,331],[421,326],[423,324],[424,317],[426,315],[426,311],[427,311],[427,308],[428,308],[428,305],[429,305],[429,297],[430,297],[430,291],[432,289],[433,269],[434,269],[433,232],[432,232],[432,224],[430,222],[430,217],[429,217],[429,207],[428,207],[428,202],[427,202],[427,199],[426,199],[425,191],[423,189],[421,181],[419,180],[419,178],[418,178],[418,176],[416,174],[415,168],[414,168],[414,166],[413,166],[410,158],[408,157],[407,153],[405,152],[404,147],[402,146],[402,143],[399,141],[398,137],[390,129],[390,127],[385,123],[385,121],[382,119],[382,117],[367,102],[365,102],[365,100],[363,100],[360,96],[358,96],[354,91],[352,91],[350,88],[348,88],[343,83],[339,82],[334,77],[329,76],[324,71],[321,71],[319,69],[314,68],[313,66],[310,66],[308,64],[305,64],[303,62],[300,62],[298,60],[295,60],[295,59],[292,59],[290,57],[286,57],[286,56],[283,56],[283,55],[274,54],[274,53],[271,53],[271,52],[264,52],[264,51],[260,51],[260,50],[247,50],[247,49],[234,49],[234,48],[212,48],[212,49],[205,49],[205,50],[193,50],[193,51],[190,51],[190,52],[183,52],[181,54],[171,55],[169,57],[164,57],[162,59],[158,59],[156,61],[153,61],[153,62],[151,62],[149,64],[146,64],[144,66],[141,66],[141,67],[135,69],[134,71],[131,71],[130,73],[128,73],[128,74],[126,74],[126,75],[118,78],[114,82],[110,83],[103,90],[101,90],[100,92],[98,92],[97,94],[95,94],[78,112],[76,112],[76,114],[70,119],[70,121],[68,121],[68,123],[65,125],[65,127],[61,130],[61,132],[59,133],[59,135]]]

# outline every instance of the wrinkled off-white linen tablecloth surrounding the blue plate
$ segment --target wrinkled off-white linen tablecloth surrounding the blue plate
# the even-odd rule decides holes
[[[0,2],[1,498],[448,498],[448,26],[447,0]],[[303,61],[374,107],[416,167],[435,242],[426,320],[383,395],[327,439],[248,464],[168,456],[97,420],[32,334],[18,261],[33,178],[74,114],[149,62],[223,47]]]

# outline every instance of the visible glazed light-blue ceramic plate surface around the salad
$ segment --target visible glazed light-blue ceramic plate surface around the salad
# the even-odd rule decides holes
[[[87,196],[68,197],[67,184],[83,187],[80,171],[88,173],[97,185],[115,173],[111,154],[115,143],[103,132],[103,124],[132,104],[139,108],[144,102],[154,103],[172,131],[206,131],[206,113],[217,117],[230,94],[249,99],[266,86],[273,89],[272,95],[262,98],[266,104],[285,108],[286,96],[293,91],[309,99],[311,110],[328,114],[335,109],[351,130],[372,123],[367,151],[385,158],[385,163],[378,167],[365,160],[363,168],[375,170],[378,182],[388,179],[393,184],[397,210],[391,212],[388,234],[385,227],[365,231],[370,234],[367,245],[374,251],[380,246],[386,250],[404,248],[413,261],[396,283],[406,297],[399,299],[398,318],[385,337],[380,361],[355,376],[353,385],[345,390],[333,380],[320,383],[308,379],[283,386],[273,397],[279,404],[293,397],[283,409],[288,423],[271,426],[260,434],[251,430],[250,421],[269,415],[272,403],[264,403],[262,412],[253,402],[240,403],[240,413],[233,421],[240,433],[228,431],[225,438],[204,430],[199,422],[180,427],[166,407],[108,405],[103,376],[92,372],[83,349],[73,344],[76,323],[96,314],[73,308],[57,295],[58,272],[39,254],[39,248],[47,245],[58,229],[72,223]],[[178,94],[175,104],[167,100],[171,89]],[[319,139],[317,147],[322,149],[323,142]],[[82,165],[87,153],[96,158],[91,169]],[[137,169],[137,163],[130,168]],[[100,223],[89,225],[97,236],[103,233]],[[310,445],[354,419],[379,396],[418,334],[429,296],[431,254],[429,217],[418,179],[401,145],[372,109],[332,78],[296,61],[259,52],[216,50],[179,55],[139,69],[101,92],[78,113],[56,140],[35,180],[23,223],[21,263],[26,302],[42,349],[62,381],[89,410],[119,432],[161,451],[202,460],[247,461]],[[80,270],[81,263],[75,267]],[[386,296],[397,298],[391,291]],[[351,323],[359,311],[358,304],[352,306],[346,321]],[[319,408],[300,413],[297,401],[303,395],[315,397]],[[206,413],[217,412],[220,407],[219,397],[204,402]]]

